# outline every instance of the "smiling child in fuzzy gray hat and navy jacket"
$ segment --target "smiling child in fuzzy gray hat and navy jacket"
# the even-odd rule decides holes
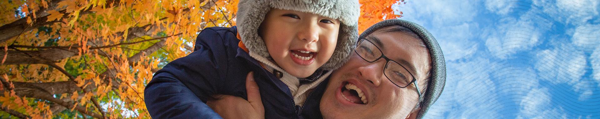
[[[312,88],[340,67],[358,35],[355,0],[247,0],[238,26],[203,29],[194,52],[155,73],[145,102],[153,118],[215,117],[214,94],[246,99],[245,76],[254,72],[265,118],[319,114]],[[321,84],[321,85],[320,85]],[[325,83],[323,83],[325,84]]]

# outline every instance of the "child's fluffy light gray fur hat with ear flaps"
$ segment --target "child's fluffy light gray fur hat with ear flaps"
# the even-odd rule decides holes
[[[237,24],[242,43],[250,52],[271,58],[265,41],[259,36],[260,23],[271,8],[318,14],[341,22],[335,51],[321,69],[334,70],[346,63],[358,40],[358,0],[241,0],[238,4]]]

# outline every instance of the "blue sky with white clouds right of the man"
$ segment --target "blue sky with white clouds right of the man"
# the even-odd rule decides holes
[[[425,118],[600,118],[600,1],[412,0],[446,58]]]

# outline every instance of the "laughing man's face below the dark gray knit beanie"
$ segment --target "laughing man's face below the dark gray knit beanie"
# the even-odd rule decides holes
[[[380,43],[376,43],[377,39]],[[402,32],[377,31],[367,40],[379,47],[383,55],[406,67],[421,86],[419,89],[424,90],[424,79],[428,75],[425,73],[430,70],[431,60],[421,40]],[[368,63],[353,53],[349,61],[331,75],[320,103],[323,117],[406,118],[418,102],[415,85],[406,88],[394,85],[383,73],[385,65],[384,58]],[[349,93],[356,88],[361,91]]]

